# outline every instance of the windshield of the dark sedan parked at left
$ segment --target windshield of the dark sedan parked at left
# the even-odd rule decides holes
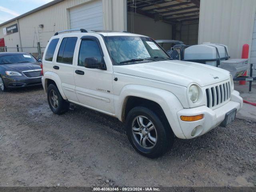
[[[30,54],[8,54],[0,56],[0,64],[38,62]]]

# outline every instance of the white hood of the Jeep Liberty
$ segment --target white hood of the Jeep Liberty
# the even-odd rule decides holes
[[[206,64],[168,60],[123,66],[113,66],[116,73],[122,73],[181,86],[196,83],[208,86],[229,79],[229,72]]]

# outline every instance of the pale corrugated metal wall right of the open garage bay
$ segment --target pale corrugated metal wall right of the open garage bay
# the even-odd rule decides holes
[[[231,58],[240,58],[243,44],[251,44],[255,0],[201,0],[198,42],[228,46]]]

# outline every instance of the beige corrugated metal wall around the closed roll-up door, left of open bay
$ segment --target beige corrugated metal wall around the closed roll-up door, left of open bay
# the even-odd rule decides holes
[[[92,1],[93,0],[65,0],[20,18],[19,24],[22,47],[35,47],[26,48],[26,50],[23,51],[37,51],[37,42],[40,42],[41,46],[45,47],[48,40],[55,32],[70,29],[69,9]],[[103,28],[106,30],[126,30],[124,19],[124,17],[126,17],[126,0],[102,0],[102,3]],[[6,46],[8,47],[16,47],[16,44],[20,46],[18,32],[7,36],[3,35],[3,28],[14,23],[16,22],[0,26],[0,38],[4,37]],[[39,24],[43,24],[44,27],[39,28]]]

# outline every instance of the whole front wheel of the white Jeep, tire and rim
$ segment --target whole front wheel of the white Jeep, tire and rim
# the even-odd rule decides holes
[[[148,158],[162,156],[173,144],[174,134],[161,113],[143,106],[127,115],[126,132],[132,146]]]

